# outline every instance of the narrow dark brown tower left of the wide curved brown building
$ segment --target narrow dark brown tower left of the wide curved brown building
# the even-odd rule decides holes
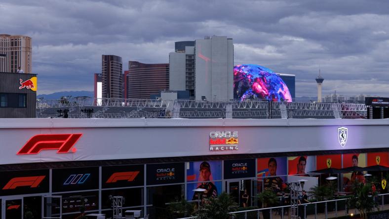
[[[122,62],[121,57],[102,55],[101,81],[103,98],[122,98]]]

